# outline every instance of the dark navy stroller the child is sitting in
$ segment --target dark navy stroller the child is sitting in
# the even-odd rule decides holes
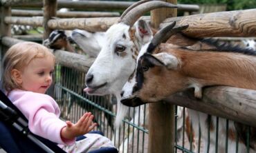
[[[56,143],[31,133],[28,129],[28,120],[1,90],[0,132],[0,147],[6,152],[64,152]],[[77,137],[77,140],[81,139],[86,137]],[[118,150],[114,147],[101,147],[89,153],[116,152]]]

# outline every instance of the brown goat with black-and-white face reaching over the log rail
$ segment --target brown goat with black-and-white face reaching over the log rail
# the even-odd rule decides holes
[[[165,32],[159,32],[151,43],[143,46],[138,56],[134,77],[122,88],[121,102],[123,104],[135,107],[145,103],[154,103],[188,88],[194,88],[194,96],[201,98],[201,88],[206,85],[228,85],[256,90],[255,51],[241,48],[225,50],[228,46],[222,45],[221,47],[225,48],[219,48],[222,49],[219,52],[217,52],[218,46],[216,46],[217,50],[202,52],[203,50],[192,51],[189,48],[167,43],[160,44],[170,37],[172,30],[185,27],[172,30],[170,28],[172,26],[164,28]],[[199,128],[198,125],[200,125],[204,141],[203,152],[208,152],[208,126],[210,126],[209,151],[215,152],[217,143],[218,152],[225,152],[226,119],[219,118],[219,141],[216,142],[214,136],[217,132],[217,125],[213,122],[216,116],[190,109],[188,113],[192,119],[193,128]],[[228,126],[228,152],[230,153],[236,150],[236,130],[235,123],[230,121]],[[251,133],[253,132],[255,129],[251,130]],[[243,140],[239,137],[239,153],[246,150]],[[250,137],[250,152],[255,152],[255,149],[255,138]]]

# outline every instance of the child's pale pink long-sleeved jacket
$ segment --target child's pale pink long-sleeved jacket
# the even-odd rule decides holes
[[[72,145],[73,140],[62,140],[60,131],[66,123],[59,119],[60,108],[47,94],[12,90],[8,97],[28,119],[28,128],[34,134],[62,145]]]

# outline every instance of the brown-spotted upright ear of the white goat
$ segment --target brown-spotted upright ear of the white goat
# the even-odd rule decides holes
[[[136,37],[138,37],[138,39],[141,40],[143,44],[148,43],[152,39],[153,33],[149,23],[140,19],[136,22],[135,27]]]

